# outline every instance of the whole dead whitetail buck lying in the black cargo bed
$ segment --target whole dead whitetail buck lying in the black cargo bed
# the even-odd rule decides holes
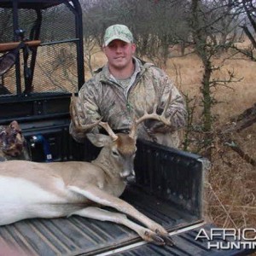
[[[0,163],[0,224],[11,224],[25,218],[79,215],[123,224],[136,231],[145,241],[172,245],[172,239],[160,224],[119,199],[127,180],[135,176],[133,160],[137,150],[137,125],[146,119],[157,119],[170,125],[170,120],[165,117],[166,109],[161,115],[156,114],[155,104],[153,113],[144,113],[134,121],[129,134],[115,134],[101,120],[92,125],[81,125],[76,97],[73,96],[70,112],[77,129],[88,131],[101,125],[108,131],[109,136],[88,134],[93,144],[103,147],[100,154],[91,163],[36,163],[23,160]],[[109,212],[100,206],[113,207],[125,214]],[[131,221],[126,215],[143,225]]]

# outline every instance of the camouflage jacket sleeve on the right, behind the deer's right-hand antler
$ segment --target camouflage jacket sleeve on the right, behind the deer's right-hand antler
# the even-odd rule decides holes
[[[166,111],[166,117],[170,118],[171,126],[162,124],[160,121],[148,120],[145,124],[150,132],[152,133],[168,133],[177,131],[179,128],[182,128],[186,124],[187,111],[183,96],[177,90],[177,87],[172,83],[172,80],[168,78],[166,73],[157,68],[157,75],[154,77],[157,78],[157,88],[160,92],[159,104],[157,108],[157,113],[162,113],[168,97],[171,94],[171,101]]]

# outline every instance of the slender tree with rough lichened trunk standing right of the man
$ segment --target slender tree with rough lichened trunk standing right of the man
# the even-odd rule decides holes
[[[218,55],[219,49],[230,47],[230,40],[227,36],[219,37],[219,34],[227,34],[220,30],[227,16],[232,17],[229,1],[202,1],[192,0],[190,8],[190,28],[191,34],[195,43],[195,52],[201,58],[203,65],[203,75],[201,80],[201,102],[202,102],[202,131],[205,133],[204,148],[208,148],[207,156],[210,157],[212,144],[212,106],[217,101],[212,96],[212,88],[218,85],[226,85],[235,81],[234,73],[229,72],[229,77],[226,79],[212,79],[212,73],[219,70],[221,67],[213,65],[212,59]],[[233,17],[235,17],[233,15]],[[236,27],[232,22],[230,31]]]

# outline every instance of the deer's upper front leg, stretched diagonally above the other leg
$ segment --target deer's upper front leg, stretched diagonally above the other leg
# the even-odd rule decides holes
[[[124,212],[132,218],[137,219],[139,222],[148,227],[149,230],[152,230],[154,233],[162,237],[162,239],[166,241],[166,244],[173,244],[172,239],[170,238],[170,236],[168,236],[168,232],[165,228],[145,216],[143,213],[137,211],[136,208],[132,207],[127,202],[119,199],[119,197],[109,195],[106,191],[98,189],[95,186],[86,186],[84,189],[80,189],[77,186],[69,185],[67,186],[67,189],[70,189],[80,195],[84,195],[90,201],[95,201],[102,206],[113,207],[119,212]]]

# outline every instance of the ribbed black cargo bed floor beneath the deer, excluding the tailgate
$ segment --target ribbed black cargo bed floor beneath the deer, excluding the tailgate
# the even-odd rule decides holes
[[[167,230],[177,230],[198,219],[177,210],[137,186],[129,186],[122,198]],[[72,216],[70,218],[30,219],[0,227],[3,241],[33,255],[91,255],[141,241],[119,224]]]

